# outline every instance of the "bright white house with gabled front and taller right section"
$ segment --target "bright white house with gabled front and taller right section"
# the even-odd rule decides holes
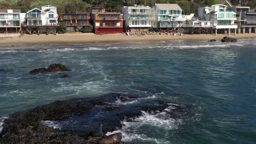
[[[42,7],[42,10],[34,8],[30,11],[27,11],[26,25],[57,25],[57,17],[57,8],[51,5],[45,5]]]

